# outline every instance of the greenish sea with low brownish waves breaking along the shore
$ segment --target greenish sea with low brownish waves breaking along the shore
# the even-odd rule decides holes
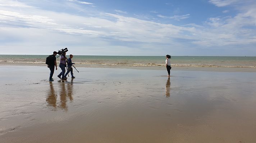
[[[0,64],[45,64],[49,55],[0,55]],[[59,55],[56,55],[58,57]],[[165,56],[101,56],[74,55],[73,63],[79,66],[138,67],[165,66]],[[57,58],[57,63],[59,57]],[[256,56],[172,56],[171,66],[256,68]]]

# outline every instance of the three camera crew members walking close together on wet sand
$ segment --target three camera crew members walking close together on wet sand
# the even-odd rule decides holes
[[[47,64],[48,68],[50,69],[49,81],[53,81],[52,76],[53,76],[53,73],[54,73],[54,66],[56,67],[56,70],[57,70],[56,55],[57,55],[57,52],[54,51],[53,54],[49,56],[51,58],[49,64]],[[62,80],[67,80],[67,75],[69,73],[71,73],[71,78],[72,79],[76,78],[73,75],[72,65],[75,64],[75,63],[72,63],[72,58],[73,58],[72,54],[69,55],[69,58],[66,57],[66,52],[63,52],[61,54],[61,56],[60,56],[60,64],[59,64],[61,72],[57,76],[58,78],[60,78]],[[66,68],[67,68],[67,73],[65,73],[66,72]]]

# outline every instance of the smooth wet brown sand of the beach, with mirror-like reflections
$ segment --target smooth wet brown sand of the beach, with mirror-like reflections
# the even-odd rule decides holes
[[[0,143],[256,140],[255,72],[77,69],[0,66]]]

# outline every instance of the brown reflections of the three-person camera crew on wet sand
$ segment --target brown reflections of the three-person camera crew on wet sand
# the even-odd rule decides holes
[[[59,85],[60,85],[60,88],[59,88],[59,96],[60,96],[60,103],[59,105],[57,105],[57,94],[55,93],[55,90],[54,90],[54,86],[52,85],[52,83],[50,83],[50,90],[48,92],[48,96],[46,98],[46,102],[48,103],[49,106],[52,106],[54,108],[56,107],[60,107],[61,109],[64,109],[64,110],[68,110],[68,107],[67,107],[67,97],[69,98],[70,102],[72,102],[73,100],[73,97],[72,97],[72,94],[73,94],[73,79],[71,79],[71,82],[70,83],[66,83],[65,82],[67,81],[63,81],[63,80],[59,80]],[[66,89],[67,87],[67,89]]]

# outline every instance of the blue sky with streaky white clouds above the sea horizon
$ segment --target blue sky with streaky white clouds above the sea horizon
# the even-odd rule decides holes
[[[256,56],[256,0],[0,0],[0,54]]]

